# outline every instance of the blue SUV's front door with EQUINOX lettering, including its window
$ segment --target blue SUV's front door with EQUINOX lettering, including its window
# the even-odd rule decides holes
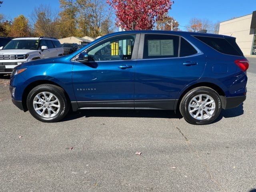
[[[73,87],[79,108],[134,108],[134,72],[140,34],[118,35],[74,58]]]

